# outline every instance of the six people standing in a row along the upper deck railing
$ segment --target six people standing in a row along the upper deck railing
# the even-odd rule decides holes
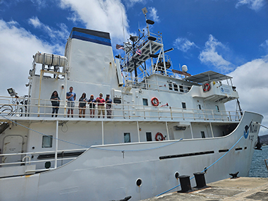
[[[75,92],[73,92],[73,87],[69,88],[69,92],[66,93],[66,99],[67,99],[67,106],[68,106],[68,117],[70,116],[73,117],[73,108],[75,107],[75,99],[76,95]],[[59,111],[59,104],[60,104],[60,98],[59,94],[57,91],[54,91],[50,97],[51,104],[52,104],[52,117],[55,114],[55,117],[57,117],[58,111]],[[90,105],[90,118],[95,118],[95,107],[97,104],[98,108],[98,118],[100,117],[101,113],[104,118],[105,116],[105,104],[106,104],[106,114],[107,118],[111,118],[111,104],[112,100],[110,99],[110,95],[106,95],[106,99],[103,98],[102,93],[99,94],[99,97],[97,99],[94,99],[94,95],[90,95],[90,99],[87,99],[87,95],[85,92],[81,95],[79,99],[79,117],[80,118],[85,118],[85,109],[87,104]]]

